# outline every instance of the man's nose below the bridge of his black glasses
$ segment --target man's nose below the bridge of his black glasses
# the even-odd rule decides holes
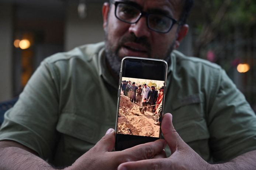
[[[138,22],[132,23],[129,32],[134,33],[136,37],[149,37],[150,30],[147,26],[146,17],[141,17]]]

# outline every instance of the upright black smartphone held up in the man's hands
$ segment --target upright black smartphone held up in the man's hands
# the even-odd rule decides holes
[[[161,137],[166,87],[167,62],[160,59],[124,57],[120,70],[117,118],[115,123],[115,151],[158,140]],[[127,82],[127,83],[125,83]],[[162,91],[159,124],[155,109]],[[141,93],[140,93],[141,92]]]

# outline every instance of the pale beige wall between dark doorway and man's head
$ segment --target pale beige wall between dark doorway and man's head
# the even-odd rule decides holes
[[[66,51],[83,44],[104,40],[102,5],[103,3],[87,3],[87,16],[85,19],[80,19],[77,14],[77,4],[68,4],[65,22]]]

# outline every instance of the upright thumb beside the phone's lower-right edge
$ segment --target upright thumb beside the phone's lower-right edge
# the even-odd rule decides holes
[[[166,113],[163,116],[161,129],[167,144],[169,145],[172,153],[174,153],[176,149],[180,147],[181,144],[184,143],[184,141],[181,139],[180,135],[177,133],[177,131],[173,127],[172,114]]]

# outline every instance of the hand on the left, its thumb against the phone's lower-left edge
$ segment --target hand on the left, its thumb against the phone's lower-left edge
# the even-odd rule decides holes
[[[115,145],[114,129],[109,129],[105,136],[88,152],[76,160],[72,166],[65,170],[82,169],[117,169],[123,162],[137,161],[151,158],[166,157],[163,148],[165,140],[157,140],[137,145],[123,151],[111,152]]]

